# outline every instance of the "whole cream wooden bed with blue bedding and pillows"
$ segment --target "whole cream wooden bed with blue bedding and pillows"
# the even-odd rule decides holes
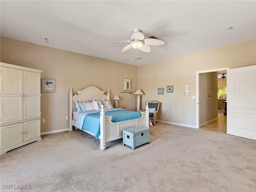
[[[69,91],[69,131],[73,131],[73,126],[75,128],[78,127],[82,131],[85,131],[86,133],[93,135],[97,139],[100,139],[100,149],[102,151],[106,149],[106,142],[114,141],[123,137],[123,129],[138,126],[149,128],[148,106],[146,106],[146,110],[144,112],[134,112],[140,113],[140,117],[136,116],[135,118],[129,120],[118,120],[116,122],[113,122],[116,119],[116,113],[118,113],[120,118],[122,119],[122,116],[126,116],[126,110],[114,110],[111,108],[111,103],[110,106],[108,106],[107,108],[107,105],[105,106],[104,104],[110,102],[109,89],[107,91],[107,94],[105,94],[105,92],[106,91],[102,91],[95,86],[88,86],[83,90],[78,90],[76,95],[73,95],[72,88],[70,88]],[[79,103],[92,101],[94,101],[93,103],[96,108],[98,104],[98,111],[94,111],[91,113],[89,105],[86,106],[88,110],[81,111],[81,108],[79,109],[79,106],[81,106],[78,105]],[[100,105],[100,102],[102,105]],[[124,113],[124,115],[120,115],[121,113]],[[90,125],[92,125],[91,123],[90,125],[86,124],[85,118],[89,116],[94,116],[94,118],[97,118],[99,120],[98,127],[95,127],[95,129],[99,130],[99,134],[97,131],[94,132],[90,129],[86,129],[86,127],[90,127]],[[84,117],[84,120],[81,119],[81,117]],[[81,121],[84,122],[82,128],[80,127]]]

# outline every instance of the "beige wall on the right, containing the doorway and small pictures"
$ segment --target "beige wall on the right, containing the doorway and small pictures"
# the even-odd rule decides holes
[[[196,99],[192,99],[192,96],[196,95],[196,71],[255,64],[256,40],[253,39],[142,65],[138,67],[138,88],[145,93],[142,96],[142,103],[147,100],[158,100],[162,102],[158,120],[195,127]],[[190,85],[190,97],[184,96],[186,84]],[[174,93],[166,93],[168,85],[174,86]],[[164,95],[157,94],[157,88],[160,87],[164,88]]]

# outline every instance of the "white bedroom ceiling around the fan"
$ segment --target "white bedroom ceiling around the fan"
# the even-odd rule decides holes
[[[4,1],[1,36],[130,65],[120,51],[139,28],[165,45],[139,51],[139,65],[256,38],[256,1]],[[228,27],[233,27],[229,30]],[[44,38],[53,44],[47,44]]]

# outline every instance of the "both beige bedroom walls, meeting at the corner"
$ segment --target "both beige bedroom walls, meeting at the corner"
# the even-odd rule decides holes
[[[142,65],[137,71],[132,65],[1,37],[1,62],[40,69],[42,78],[56,78],[57,93],[42,94],[42,118],[46,119],[42,132],[68,128],[65,116],[68,116],[70,87],[74,90],[90,85],[102,90],[110,88],[111,97],[114,94],[120,97],[119,106],[136,110],[136,96],[120,94],[124,78],[132,79],[133,91],[137,87],[143,90],[143,106],[148,100],[162,102],[158,120],[195,127],[196,99],[192,96],[196,95],[196,71],[255,65],[255,54],[256,40],[253,39]],[[190,85],[190,97],[184,96],[186,84]],[[174,86],[174,93],[166,93],[168,85]],[[164,95],[157,94],[160,87],[164,88]]]

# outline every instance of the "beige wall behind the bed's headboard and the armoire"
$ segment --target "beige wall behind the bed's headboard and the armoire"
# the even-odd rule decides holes
[[[41,78],[56,79],[56,93],[41,94],[41,132],[68,128],[68,92],[87,86],[110,89],[110,99],[117,94],[119,106],[136,110],[134,94],[124,90],[124,78],[131,79],[131,89],[137,89],[137,68],[51,47],[1,37],[1,62],[42,70]],[[75,92],[76,93],[76,92]],[[113,102],[112,102],[113,104]]]

